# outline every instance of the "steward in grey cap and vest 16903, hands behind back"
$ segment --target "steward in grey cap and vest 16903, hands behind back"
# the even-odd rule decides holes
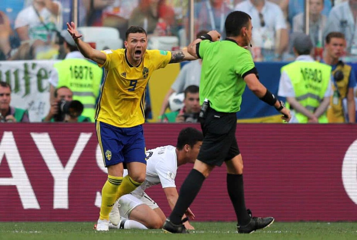
[[[302,67],[301,65],[300,66],[301,68],[297,69],[298,73],[301,72],[303,76],[298,76],[298,74],[288,74],[288,72],[284,70],[285,66],[282,68],[283,70],[281,72],[281,77],[279,82],[278,96],[286,97],[286,102],[290,104],[291,120],[289,123],[322,122],[321,118],[324,117],[327,107],[330,104],[330,97],[332,95],[331,68],[329,68],[330,71],[327,71],[326,74],[323,71],[321,72],[319,71],[321,68],[325,69],[327,65],[324,63],[315,62],[315,60],[310,56],[312,48],[313,45],[310,37],[303,33],[297,33],[297,36],[293,41],[293,50],[296,55],[295,63],[296,62],[305,63],[304,67]],[[299,66],[297,65],[297,67]],[[305,74],[306,72],[308,72],[307,75]],[[292,79],[291,78],[292,76],[293,78],[296,79]],[[300,82],[297,84],[297,81]],[[328,81],[328,83],[326,83],[325,81]],[[294,86],[299,86],[299,87],[306,86],[306,88],[309,87],[312,88],[312,87],[326,86],[326,84],[327,84],[327,88],[322,99],[320,99],[320,96],[313,95],[310,92],[303,96],[299,96],[299,97],[296,96],[298,95],[299,92],[297,89],[294,88]],[[321,91],[323,91],[322,87],[321,87]],[[307,104],[307,106],[304,106],[303,101],[305,101],[307,98],[318,99],[318,101],[320,101],[319,106],[317,107],[308,106],[309,104]],[[311,102],[313,101],[310,101],[310,103]],[[297,115],[305,116],[305,117],[298,117]],[[302,118],[305,119],[302,120]]]

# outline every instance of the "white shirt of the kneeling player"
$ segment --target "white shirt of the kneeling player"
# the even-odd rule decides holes
[[[132,193],[143,195],[145,189],[161,183],[162,188],[176,187],[176,147],[167,145],[146,151],[146,177],[144,183]],[[123,177],[128,174],[124,169]]]

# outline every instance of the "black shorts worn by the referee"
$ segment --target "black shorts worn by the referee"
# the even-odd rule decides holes
[[[236,113],[207,110],[207,116],[201,120],[203,143],[197,159],[208,164],[221,166],[224,161],[240,154],[237,139]]]

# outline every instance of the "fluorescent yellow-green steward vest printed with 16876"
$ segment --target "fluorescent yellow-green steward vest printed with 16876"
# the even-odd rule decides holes
[[[66,86],[73,92],[73,100],[83,106],[82,116],[94,122],[95,103],[99,95],[102,69],[95,63],[82,58],[67,58],[55,63],[58,72],[57,88]]]

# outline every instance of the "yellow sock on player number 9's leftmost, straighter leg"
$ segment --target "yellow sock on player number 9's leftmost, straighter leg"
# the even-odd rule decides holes
[[[100,206],[100,219],[109,219],[109,213],[116,201],[118,188],[122,183],[123,177],[113,177],[108,175],[108,180],[102,188],[102,204]]]

